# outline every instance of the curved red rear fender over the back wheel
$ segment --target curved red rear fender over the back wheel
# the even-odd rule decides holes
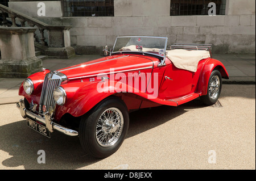
[[[207,60],[201,70],[201,74],[199,77],[199,84],[197,87],[197,93],[201,95],[207,95],[207,87],[210,78],[210,74],[214,69],[217,69],[221,73],[221,77],[225,79],[229,79],[228,71],[226,71],[225,66],[218,60],[213,58],[209,58]]]

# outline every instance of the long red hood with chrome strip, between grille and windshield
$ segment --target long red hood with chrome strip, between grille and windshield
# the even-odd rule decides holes
[[[152,58],[152,57],[151,57]],[[153,62],[144,56],[117,55],[99,58],[79,65],[59,69],[68,79],[86,78],[98,74],[152,68]]]

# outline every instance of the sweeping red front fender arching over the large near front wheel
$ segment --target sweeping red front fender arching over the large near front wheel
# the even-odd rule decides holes
[[[67,83],[65,85],[61,85],[67,94],[67,102],[63,106],[56,107],[56,115],[55,120],[59,121],[61,117],[65,113],[69,113],[72,116],[79,117],[84,115],[86,112],[91,110],[96,104],[101,102],[110,95],[117,94],[120,92],[128,92],[134,95],[138,95],[142,99],[151,100],[151,102],[157,104],[166,104],[169,106],[177,106],[176,102],[166,101],[163,99],[159,99],[148,92],[142,92],[134,87],[131,87],[125,83],[117,82],[117,81],[106,81],[107,85],[103,86],[103,89],[99,89],[102,82],[76,82],[76,83]],[[124,100],[124,102],[132,102],[139,99],[132,99],[131,97],[125,98],[131,100]],[[141,105],[141,102],[137,102],[138,108]],[[132,102],[129,105],[126,105],[128,110],[133,109]],[[133,108],[131,108],[133,107]]]

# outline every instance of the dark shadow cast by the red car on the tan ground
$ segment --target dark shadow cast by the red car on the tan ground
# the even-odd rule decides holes
[[[198,100],[186,106],[160,106],[146,108],[130,113],[130,127],[126,138],[133,137],[149,129],[158,127],[167,121],[187,112],[185,108],[201,108]],[[42,136],[27,127],[26,120],[16,121],[0,127],[0,150],[9,153],[10,158],[2,161],[2,165],[15,169],[23,166],[26,170],[34,169],[79,169],[101,161],[82,151],[79,138],[69,137],[54,132],[51,138]],[[46,163],[37,162],[39,150],[46,153]]]

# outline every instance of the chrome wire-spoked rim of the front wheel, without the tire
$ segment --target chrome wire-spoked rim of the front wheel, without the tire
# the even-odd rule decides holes
[[[118,141],[123,131],[123,115],[118,108],[105,110],[96,124],[96,140],[103,147],[109,147]]]

